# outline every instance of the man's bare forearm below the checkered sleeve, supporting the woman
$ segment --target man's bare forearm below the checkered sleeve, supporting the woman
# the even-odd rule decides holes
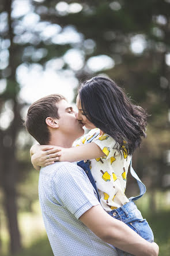
[[[158,246],[149,243],[122,221],[112,218],[100,205],[93,206],[79,218],[106,243],[137,256],[157,256]]]

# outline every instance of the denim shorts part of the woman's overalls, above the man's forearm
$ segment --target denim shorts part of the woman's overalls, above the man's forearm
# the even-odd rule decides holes
[[[118,209],[110,211],[108,214],[119,221],[123,221],[131,229],[133,229],[133,231],[138,233],[139,236],[143,237],[143,239],[153,243],[154,236],[152,229],[150,228],[146,219],[143,219],[141,212],[137,209],[137,206],[133,201],[124,204]],[[122,250],[119,250],[118,248],[116,248],[116,250],[118,251],[119,256],[131,255]]]

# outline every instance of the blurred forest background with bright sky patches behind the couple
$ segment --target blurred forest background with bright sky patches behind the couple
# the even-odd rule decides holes
[[[80,81],[105,74],[150,114],[133,160],[147,187],[137,204],[168,256],[170,0],[1,0],[0,43],[0,255],[53,255],[22,126],[29,105],[50,93],[75,101]]]

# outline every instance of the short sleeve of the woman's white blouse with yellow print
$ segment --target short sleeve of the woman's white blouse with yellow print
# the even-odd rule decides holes
[[[93,142],[95,142],[95,144],[97,144],[105,153],[105,156],[103,156],[103,158],[100,158],[102,160],[106,160],[109,158],[111,158],[111,160],[115,160],[116,156],[120,154],[119,151],[115,149],[116,141],[108,134],[103,134],[102,136],[93,140]]]

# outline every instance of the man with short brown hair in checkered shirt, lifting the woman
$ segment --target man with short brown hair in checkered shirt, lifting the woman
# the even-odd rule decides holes
[[[84,134],[73,108],[59,94],[33,103],[25,126],[40,144],[64,148]],[[158,255],[157,244],[103,210],[85,171],[75,163],[41,168],[39,199],[54,255],[118,255],[114,247],[134,255]]]

